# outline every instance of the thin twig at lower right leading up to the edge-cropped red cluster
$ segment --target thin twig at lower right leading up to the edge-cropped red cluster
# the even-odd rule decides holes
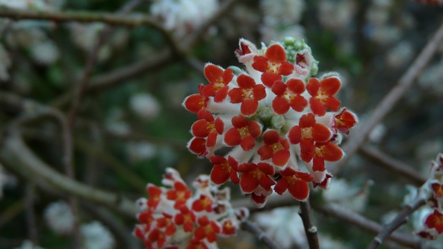
[[[416,199],[414,203],[411,205],[406,206],[403,210],[401,210],[398,215],[395,217],[393,221],[388,223],[386,226],[383,226],[383,230],[379,232],[379,234],[374,237],[370,245],[367,249],[376,249],[378,248],[381,243],[383,243],[383,240],[389,237],[389,235],[397,230],[401,225],[406,223],[408,217],[412,215],[415,210],[419,209],[421,206],[426,204],[426,200],[423,198]]]

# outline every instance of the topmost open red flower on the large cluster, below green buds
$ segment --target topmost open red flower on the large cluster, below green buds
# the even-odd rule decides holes
[[[270,46],[264,57],[255,56],[252,67],[263,72],[262,82],[270,88],[275,81],[282,79],[282,75],[289,75],[293,71],[293,65],[286,61],[286,52],[280,44]]]

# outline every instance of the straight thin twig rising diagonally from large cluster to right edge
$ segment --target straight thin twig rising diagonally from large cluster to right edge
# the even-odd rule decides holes
[[[413,64],[408,68],[406,73],[399,79],[398,83],[390,90],[388,94],[380,101],[379,105],[374,108],[372,114],[370,115],[368,121],[363,123],[359,128],[356,128],[352,132],[352,135],[349,137],[347,142],[343,145],[343,150],[346,152],[347,157],[340,161],[339,163],[334,163],[329,168],[333,174],[336,174],[347,161],[354,155],[354,153],[359,150],[359,148],[365,142],[366,137],[371,132],[371,130],[377,126],[377,123],[383,119],[383,117],[388,114],[392,108],[394,108],[395,103],[401,99],[406,90],[408,90],[415,79],[419,76],[419,74],[424,70],[426,65],[428,65],[429,61],[431,61],[435,52],[437,52],[438,48],[443,42],[443,24],[438,28],[435,32],[434,36],[422,52],[420,52],[419,56],[415,59]]]

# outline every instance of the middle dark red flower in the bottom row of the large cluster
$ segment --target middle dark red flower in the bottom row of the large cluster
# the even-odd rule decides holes
[[[269,163],[242,163],[238,166],[238,171],[243,173],[240,177],[240,188],[244,193],[253,192],[259,185],[265,190],[270,190],[275,184],[269,177],[275,172]]]

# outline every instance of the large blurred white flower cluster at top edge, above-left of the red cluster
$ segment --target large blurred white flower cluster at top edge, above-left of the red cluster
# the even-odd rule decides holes
[[[209,19],[219,6],[218,0],[156,0],[151,14],[158,17],[177,37],[192,32]]]

